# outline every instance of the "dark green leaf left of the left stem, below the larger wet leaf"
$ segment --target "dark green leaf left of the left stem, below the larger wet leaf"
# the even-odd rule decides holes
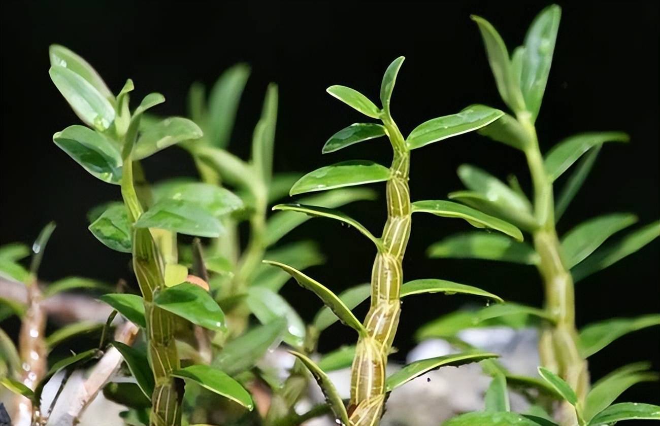
[[[94,237],[110,249],[131,253],[131,224],[121,202],[108,204],[106,210],[88,228]]]

